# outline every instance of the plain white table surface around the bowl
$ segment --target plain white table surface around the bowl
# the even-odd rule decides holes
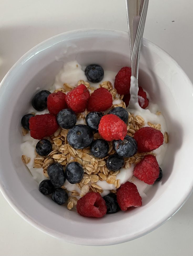
[[[192,9],[191,0],[150,0],[144,31],[144,37],[173,56],[191,81]],[[0,81],[20,56],[53,35],[77,28],[127,31],[124,0],[1,0],[0,13]],[[1,194],[0,205],[2,256],[193,255],[193,195],[150,234],[104,247],[69,244],[42,233],[17,215]]]

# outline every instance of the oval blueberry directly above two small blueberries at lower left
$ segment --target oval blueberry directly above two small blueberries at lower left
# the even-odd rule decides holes
[[[60,163],[49,165],[47,171],[50,181],[55,187],[61,187],[64,184],[66,176]]]

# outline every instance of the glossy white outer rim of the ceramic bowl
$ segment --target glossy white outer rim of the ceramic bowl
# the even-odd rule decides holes
[[[128,32],[126,31],[121,31],[121,30],[113,30],[113,29],[101,29],[101,28],[83,28],[83,29],[77,29],[77,30],[72,30],[72,31],[66,31],[63,33],[60,33],[58,35],[55,35],[53,37],[50,37],[46,40],[44,40],[43,42],[39,43],[38,45],[34,46],[32,49],[30,49],[28,52],[26,52],[22,57],[20,57],[20,59],[15,62],[15,64],[11,67],[11,69],[7,72],[7,74],[4,76],[4,78],[2,79],[1,83],[0,83],[0,88],[1,86],[4,84],[4,82],[9,78],[9,76],[11,75],[12,71],[19,66],[22,63],[25,63],[30,57],[32,57],[32,53],[36,52],[36,50],[38,50],[41,46],[43,46],[44,44],[46,44],[46,42],[51,42],[52,40],[56,39],[57,37],[60,38],[62,36],[66,36],[66,35],[72,35],[72,34],[79,34],[81,35],[81,33],[92,33],[93,35],[95,34],[101,34],[101,33],[116,33],[124,36],[128,36]],[[58,42],[62,42],[63,40],[59,40]],[[129,45],[129,36],[128,36],[128,45]],[[171,55],[169,55],[165,50],[161,49],[159,46],[157,46],[156,44],[150,42],[147,39],[143,38],[143,45],[148,46],[150,48],[156,49],[157,50],[157,54],[162,54],[166,57],[168,57],[170,59],[170,61],[181,71],[182,75],[186,78],[186,81],[192,85],[190,79],[188,78],[188,76],[186,75],[185,71],[180,67],[180,65],[178,64],[178,62],[176,62]],[[45,50],[47,47],[45,47],[43,50]],[[193,181],[192,181],[193,183]],[[169,220],[176,212],[178,212],[178,210],[184,205],[184,203],[187,201],[187,199],[189,198],[189,196],[191,195],[192,191],[193,191],[193,187],[191,186],[191,189],[189,189],[189,191],[184,194],[183,196],[183,200],[181,200],[178,205],[176,205],[175,209],[171,209],[170,210],[170,214],[169,216],[164,216],[164,218],[160,218],[159,221],[155,222],[153,225],[149,226],[147,228],[147,230],[144,233],[139,233],[137,235],[135,235],[133,238],[128,236],[124,236],[124,237],[120,237],[119,240],[115,242],[115,240],[112,238],[109,238],[109,240],[107,241],[105,238],[99,238],[99,239],[82,239],[79,237],[75,238],[75,242],[69,238],[68,236],[64,235],[61,236],[59,235],[57,232],[54,232],[53,230],[50,230],[48,228],[46,228],[45,226],[38,224],[35,222],[35,220],[33,220],[32,218],[30,218],[29,216],[27,216],[21,209],[19,209],[18,205],[14,202],[14,200],[7,194],[6,189],[3,185],[3,182],[0,180],[0,191],[2,192],[4,198],[7,200],[7,202],[9,203],[9,205],[15,210],[15,212],[17,212],[18,215],[20,215],[25,221],[27,221],[29,224],[31,224],[32,226],[34,226],[35,228],[43,231],[46,234],[49,234],[51,236],[54,236],[56,238],[60,238],[65,240],[66,242],[70,242],[70,243],[76,243],[76,244],[81,244],[81,245],[113,245],[113,244],[117,244],[117,243],[123,243],[123,242],[127,242],[136,238],[139,238],[140,236],[146,235],[149,232],[155,230],[156,228],[158,228],[159,226],[161,226],[162,224],[164,224],[167,220]]]

